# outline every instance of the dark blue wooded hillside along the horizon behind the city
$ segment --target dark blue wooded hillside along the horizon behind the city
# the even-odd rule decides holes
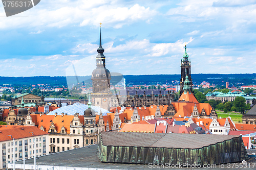
[[[180,75],[125,75],[123,76],[126,81],[126,85],[131,84],[172,84],[172,81],[179,81]],[[193,82],[200,84],[203,81],[210,84],[224,85],[227,81],[235,86],[256,84],[256,74],[193,74],[191,75]],[[51,86],[67,86],[67,80],[69,85],[76,84],[77,82],[91,82],[91,76],[34,76],[34,77],[0,77],[0,85],[35,85],[35,84],[50,84]]]

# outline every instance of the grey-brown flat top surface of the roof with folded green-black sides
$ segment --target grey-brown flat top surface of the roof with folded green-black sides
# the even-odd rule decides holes
[[[102,132],[105,146],[200,149],[239,135]]]

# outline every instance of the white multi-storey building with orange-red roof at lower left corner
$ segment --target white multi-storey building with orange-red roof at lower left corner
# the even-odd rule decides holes
[[[0,169],[7,163],[49,153],[48,133],[34,126],[0,126]]]

